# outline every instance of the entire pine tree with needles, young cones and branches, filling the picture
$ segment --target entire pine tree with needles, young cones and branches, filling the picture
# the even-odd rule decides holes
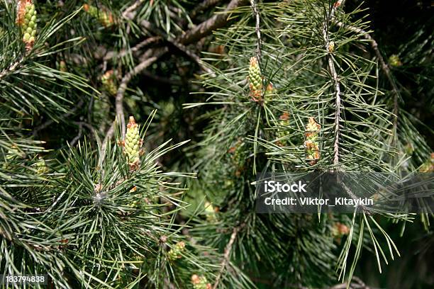
[[[1,1],[1,273],[350,288],[432,244],[430,212],[255,212],[266,171],[433,171],[430,23],[389,53],[345,2]]]

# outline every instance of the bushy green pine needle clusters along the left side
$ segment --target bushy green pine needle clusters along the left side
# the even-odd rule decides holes
[[[135,136],[126,140],[127,146],[133,145],[128,150],[122,136],[126,128],[120,124],[114,146],[103,143],[99,132],[86,124],[94,137],[92,145],[87,138],[79,140],[83,122],[72,122],[79,125],[79,135],[56,152],[45,149],[44,141],[33,140],[38,130],[65,122],[89,98],[99,106],[91,120],[110,123],[101,111],[109,103],[104,102],[108,96],[85,78],[86,64],[90,66],[87,62],[93,58],[87,60],[86,48],[80,45],[86,39],[69,38],[87,35],[80,29],[89,28],[72,30],[80,23],[77,17],[87,17],[80,13],[82,7],[69,6],[55,16],[38,13],[38,33],[28,45],[16,23],[19,5],[43,11],[33,1],[1,4],[1,272],[48,274],[55,288],[180,288],[192,284],[194,273],[211,280],[217,270],[211,261],[216,253],[187,242],[182,225],[174,222],[187,205],[182,201],[184,189],[174,180],[191,175],[165,173],[157,165],[185,142],[162,142],[145,154],[132,154],[139,147],[131,141],[144,136],[145,130],[135,125]],[[68,10],[71,13],[62,15]],[[109,28],[104,24],[111,17],[91,16]],[[116,84],[110,85],[113,90]],[[141,128],[149,128],[155,111],[149,115]],[[45,123],[29,137],[33,119],[41,118]],[[169,252],[179,242],[187,246],[175,260]]]

